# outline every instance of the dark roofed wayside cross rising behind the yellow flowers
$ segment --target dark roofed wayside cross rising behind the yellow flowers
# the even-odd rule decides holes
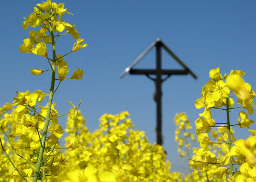
[[[153,47],[156,48],[156,69],[133,69],[132,67],[138,63]],[[161,68],[161,47],[163,47],[184,69],[162,69]],[[122,78],[127,72],[130,74],[143,74],[155,83],[154,101],[156,102],[156,143],[162,145],[162,128],[161,128],[161,84],[171,75],[192,75],[194,79],[197,76],[159,39],[157,38],[138,58],[128,66],[120,75]],[[155,75],[155,78],[150,75]],[[165,75],[162,78],[162,75]]]

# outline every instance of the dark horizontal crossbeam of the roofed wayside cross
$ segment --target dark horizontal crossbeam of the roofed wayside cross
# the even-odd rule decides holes
[[[156,69],[130,69],[130,74],[150,74],[155,75]],[[189,70],[179,70],[179,69],[161,69],[161,75],[187,75]]]

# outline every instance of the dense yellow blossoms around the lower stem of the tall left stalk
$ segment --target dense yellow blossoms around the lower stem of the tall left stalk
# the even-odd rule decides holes
[[[24,180],[22,176],[27,181],[32,180],[34,173],[32,166],[37,160],[47,108],[47,106],[43,107],[39,104],[46,95],[40,90],[33,93],[19,92],[17,97],[13,98],[14,104],[5,104],[0,109],[5,112],[0,119],[0,140],[3,149],[1,151],[6,152],[5,157],[3,153],[0,153],[0,181],[22,182]],[[16,107],[12,107],[15,105]],[[11,113],[6,113],[11,107]],[[51,105],[51,118],[56,116],[58,115],[53,104]],[[57,174],[56,172],[61,169],[61,163],[64,161],[64,155],[60,152],[61,148],[58,142],[63,131],[56,118],[51,119],[48,134],[42,164],[45,166],[43,172],[51,176]],[[9,156],[16,169],[10,164],[6,155]]]

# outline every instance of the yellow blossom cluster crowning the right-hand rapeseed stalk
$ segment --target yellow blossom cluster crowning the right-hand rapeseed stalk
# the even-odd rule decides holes
[[[201,98],[197,99],[194,103],[197,109],[204,107],[204,112],[199,114],[200,117],[195,121],[195,133],[197,135],[202,132],[208,133],[210,127],[215,126],[215,121],[211,118],[210,110],[212,108],[218,109],[221,106],[226,107],[226,98],[228,98],[229,107],[234,105],[233,99],[230,98],[230,89],[234,91],[236,95],[238,94],[237,104],[242,105],[242,108],[246,109],[248,114],[253,113],[252,103],[256,94],[251,89],[251,86],[242,80],[241,76],[244,74],[245,73],[240,70],[232,70],[228,76],[224,76],[226,78],[224,82],[222,75],[219,73],[219,68],[210,70],[209,77],[211,80],[202,87]],[[252,121],[247,119],[247,114],[242,111],[239,113],[239,116],[239,126],[249,128]]]

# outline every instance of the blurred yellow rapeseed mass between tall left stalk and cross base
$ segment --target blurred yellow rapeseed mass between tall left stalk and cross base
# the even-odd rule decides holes
[[[169,172],[161,146],[150,144],[144,132],[134,131],[127,112],[101,116],[100,128],[90,133],[80,112],[68,116],[65,138],[67,166],[59,182],[181,182]]]

